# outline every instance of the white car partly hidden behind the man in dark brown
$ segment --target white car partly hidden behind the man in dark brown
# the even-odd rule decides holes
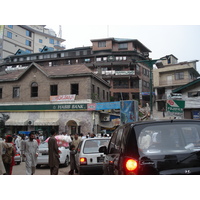
[[[60,150],[60,165],[67,167],[70,162],[70,150],[69,147],[59,147]],[[41,165],[48,165],[49,163],[49,149],[48,143],[42,142],[39,145],[39,155],[37,157],[37,165],[39,168]]]

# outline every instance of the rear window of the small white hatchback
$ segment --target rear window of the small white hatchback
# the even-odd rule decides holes
[[[99,153],[100,146],[108,147],[109,139],[94,139],[85,141],[83,153]]]

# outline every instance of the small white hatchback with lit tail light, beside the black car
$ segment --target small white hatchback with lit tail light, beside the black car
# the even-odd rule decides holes
[[[82,140],[75,155],[78,174],[102,174],[104,153],[99,147],[107,146],[110,138],[86,138]]]

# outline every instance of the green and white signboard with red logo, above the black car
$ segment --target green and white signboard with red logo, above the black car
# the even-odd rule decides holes
[[[185,108],[185,101],[181,100],[167,100],[167,112],[169,116],[183,118]]]

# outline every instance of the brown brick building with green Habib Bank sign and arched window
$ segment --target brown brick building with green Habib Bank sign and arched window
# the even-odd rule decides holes
[[[98,113],[88,104],[97,91],[101,102],[109,101],[109,84],[84,64],[6,67],[0,72],[0,113],[6,133],[50,129],[69,134],[94,131]]]

